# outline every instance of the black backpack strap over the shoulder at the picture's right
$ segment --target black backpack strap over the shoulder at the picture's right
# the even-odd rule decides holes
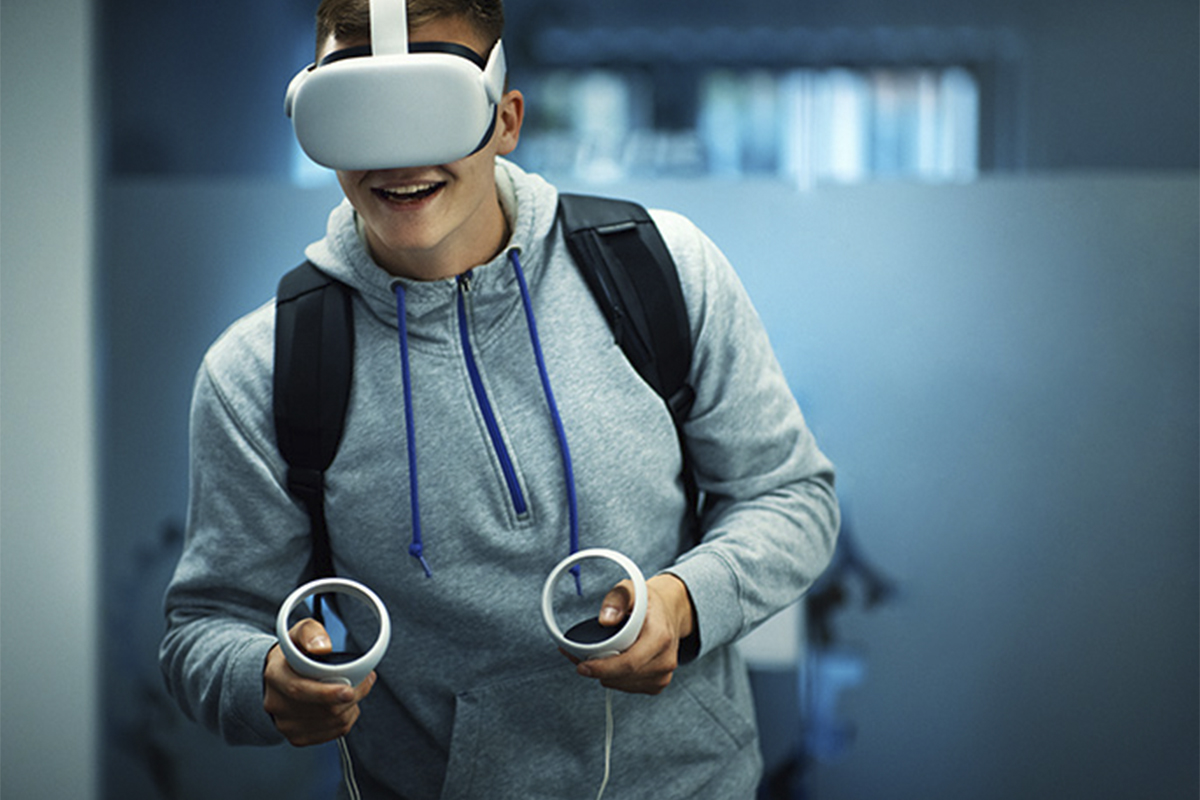
[[[559,194],[558,201],[566,247],[617,344],[671,411],[689,507],[695,511],[700,493],[683,435],[696,397],[688,383],[691,329],[671,252],[636,203],[581,194]]]

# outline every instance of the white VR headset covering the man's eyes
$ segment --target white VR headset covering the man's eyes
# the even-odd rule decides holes
[[[301,70],[284,112],[300,148],[330,169],[446,164],[491,139],[504,76],[500,42],[486,61],[461,44],[409,47],[406,0],[371,0],[371,46]]]

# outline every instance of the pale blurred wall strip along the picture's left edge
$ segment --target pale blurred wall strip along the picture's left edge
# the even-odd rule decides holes
[[[0,11],[0,793],[96,796],[88,0]]]

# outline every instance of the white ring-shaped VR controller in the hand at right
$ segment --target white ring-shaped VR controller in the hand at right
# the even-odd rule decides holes
[[[587,559],[616,561],[625,571],[634,584],[634,610],[624,625],[616,630],[605,627],[600,625],[598,619],[592,618],[563,633],[554,618],[554,590],[568,570]],[[642,624],[646,622],[646,578],[642,577],[642,571],[628,557],[605,548],[580,551],[563,559],[551,571],[550,577],[546,578],[546,585],[541,590],[541,616],[546,622],[546,630],[550,631],[550,636],[558,643],[558,646],[583,661],[607,658],[628,650],[642,632]]]

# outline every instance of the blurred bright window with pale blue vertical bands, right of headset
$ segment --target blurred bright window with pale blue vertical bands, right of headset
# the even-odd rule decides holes
[[[707,70],[682,88],[695,110],[674,127],[658,106],[680,86],[646,71],[547,71],[523,86],[529,118],[515,157],[553,175],[812,186],[962,181],[979,169],[979,89],[958,66]]]

